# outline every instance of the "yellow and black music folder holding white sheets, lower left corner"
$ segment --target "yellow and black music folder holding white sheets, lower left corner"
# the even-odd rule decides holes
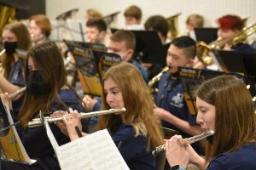
[[[0,148],[3,152],[2,159],[19,163],[32,164],[36,160],[30,159],[21,143],[14,122],[9,111],[9,105],[3,104],[0,99]]]

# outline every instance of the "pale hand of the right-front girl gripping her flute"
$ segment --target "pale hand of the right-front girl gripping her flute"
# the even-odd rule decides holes
[[[184,144],[180,135],[174,135],[171,139],[166,140],[166,159],[169,165],[180,165],[187,167],[189,163],[188,144]]]

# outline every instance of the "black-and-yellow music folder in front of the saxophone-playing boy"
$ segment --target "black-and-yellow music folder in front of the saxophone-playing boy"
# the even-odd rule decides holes
[[[185,99],[186,105],[189,108],[189,113],[191,115],[196,115],[196,105],[195,105],[195,90],[199,87],[202,82],[205,82],[213,77],[218,77],[220,75],[231,75],[239,78],[243,78],[241,74],[236,72],[223,72],[223,71],[212,71],[212,70],[201,70],[194,68],[178,67],[178,73],[180,81],[183,85],[183,97]]]

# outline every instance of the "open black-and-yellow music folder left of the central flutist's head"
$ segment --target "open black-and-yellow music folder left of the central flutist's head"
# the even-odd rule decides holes
[[[118,54],[84,48],[73,42],[65,41],[65,43],[76,61],[79,81],[81,82],[84,94],[101,96],[102,76],[108,68],[118,65],[122,60],[121,57]]]

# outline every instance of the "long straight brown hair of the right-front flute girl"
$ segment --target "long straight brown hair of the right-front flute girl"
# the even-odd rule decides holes
[[[255,142],[256,121],[252,96],[244,82],[232,76],[215,77],[201,84],[197,96],[215,105],[215,133],[207,144],[206,161]]]

